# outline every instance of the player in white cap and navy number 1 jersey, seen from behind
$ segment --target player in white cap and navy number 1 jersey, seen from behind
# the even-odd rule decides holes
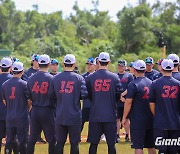
[[[23,70],[21,62],[14,62],[12,65],[13,78],[2,85],[3,102],[7,107],[5,154],[11,154],[16,135],[19,141],[18,154],[26,154],[29,125],[27,83],[21,79]]]

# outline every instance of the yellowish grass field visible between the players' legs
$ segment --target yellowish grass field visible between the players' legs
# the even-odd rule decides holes
[[[87,128],[88,124],[85,124],[85,127],[82,132],[83,138],[87,136]],[[124,131],[124,130],[122,130]],[[89,143],[87,142],[82,142],[80,143],[80,154],[88,154],[89,150]],[[2,149],[4,151],[4,147]],[[35,154],[48,154],[48,144],[36,144],[35,147]],[[70,144],[66,143],[65,148],[64,148],[64,154],[69,154],[70,152]],[[133,154],[134,150],[131,149],[130,143],[124,142],[124,138],[122,137],[120,143],[116,144],[116,151],[117,154]],[[145,154],[147,154],[147,150],[145,149]],[[107,144],[106,142],[101,142],[98,146],[98,154],[107,154]]]

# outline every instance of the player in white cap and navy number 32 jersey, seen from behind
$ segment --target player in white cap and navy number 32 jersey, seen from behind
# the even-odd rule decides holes
[[[174,64],[171,59],[161,63],[163,76],[152,83],[150,109],[154,115],[154,138],[159,154],[177,154],[177,144],[166,140],[180,138],[180,82],[172,77]],[[157,144],[165,140],[166,144]]]

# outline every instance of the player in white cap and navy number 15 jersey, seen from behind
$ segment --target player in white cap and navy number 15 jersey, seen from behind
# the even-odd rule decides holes
[[[49,89],[49,95],[57,99],[56,153],[63,153],[69,134],[70,153],[78,154],[82,122],[80,98],[86,98],[88,93],[84,78],[73,72],[76,63],[75,56],[67,54],[63,63],[64,71],[54,77]]]

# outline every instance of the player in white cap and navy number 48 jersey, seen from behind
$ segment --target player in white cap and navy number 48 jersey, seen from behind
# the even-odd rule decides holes
[[[38,59],[39,71],[28,79],[28,98],[32,101],[30,119],[30,137],[27,146],[27,153],[34,153],[34,145],[38,135],[43,130],[49,144],[49,153],[54,153],[55,148],[55,124],[53,104],[48,97],[48,89],[53,78],[49,74],[50,58],[48,55],[41,55]],[[54,102],[54,101],[53,101]]]

